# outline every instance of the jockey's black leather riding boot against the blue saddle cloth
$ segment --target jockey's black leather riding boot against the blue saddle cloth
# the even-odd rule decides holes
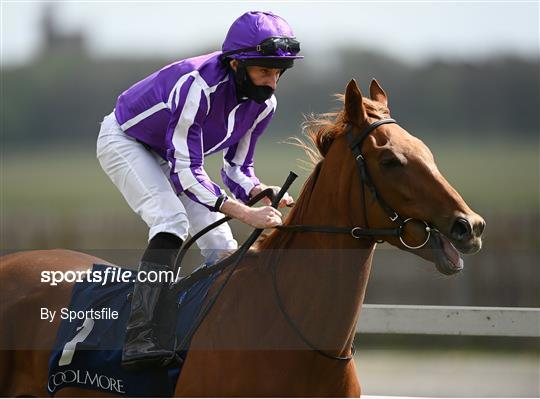
[[[171,270],[168,266],[141,261],[139,271]],[[174,351],[164,349],[155,335],[155,312],[161,292],[167,282],[135,282],[131,299],[131,314],[126,329],[122,367],[141,370],[146,367],[165,367],[177,361]]]

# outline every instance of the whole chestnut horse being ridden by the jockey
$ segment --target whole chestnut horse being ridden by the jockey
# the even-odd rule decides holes
[[[359,396],[350,352],[377,241],[430,260],[444,274],[461,270],[459,252],[481,248],[483,219],[440,174],[425,144],[390,119],[376,81],[370,97],[352,80],[344,109],[308,124],[316,147],[310,154],[319,163],[284,225],[319,229],[276,229],[240,262],[193,336],[176,395]],[[350,226],[351,234],[321,226]],[[39,321],[39,309],[67,306],[72,285],[40,284],[39,273],[95,262],[103,260],[65,250],[2,259],[3,395],[47,394],[48,348],[58,324]]]

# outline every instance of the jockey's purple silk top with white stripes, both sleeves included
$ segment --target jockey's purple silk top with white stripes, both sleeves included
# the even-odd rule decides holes
[[[167,65],[120,95],[115,116],[122,130],[156,151],[171,166],[176,192],[216,209],[223,195],[204,170],[204,157],[223,151],[223,182],[247,202],[259,184],[253,156],[275,109],[238,101],[234,77],[220,52]]]

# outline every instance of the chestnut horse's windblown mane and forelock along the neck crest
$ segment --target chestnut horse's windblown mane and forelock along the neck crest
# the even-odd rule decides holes
[[[334,96],[341,103],[345,102],[345,95],[335,94]],[[369,117],[381,119],[382,117],[390,116],[388,108],[383,104],[366,97],[363,97],[362,99]],[[346,127],[347,121],[345,119],[344,110],[322,114],[311,114],[305,117],[305,121],[302,124],[303,135],[305,138],[292,137],[288,140],[288,144],[300,147],[304,150],[308,157],[308,161],[304,161],[304,163],[310,165],[313,170],[304,183],[294,208],[292,208],[287,218],[284,220],[284,225],[295,224],[295,221],[302,219],[302,216],[307,209],[311,192],[313,191],[315,182],[319,176],[324,158],[328,154],[334,140],[345,134]],[[282,248],[291,235],[291,233],[280,232],[278,229],[275,229],[271,233],[262,236],[261,239],[257,241],[256,247],[261,250]]]

